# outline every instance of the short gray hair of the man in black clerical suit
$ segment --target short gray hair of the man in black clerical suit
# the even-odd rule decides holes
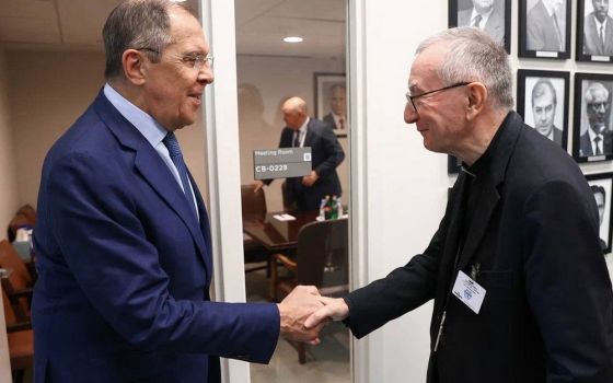
[[[478,81],[487,88],[493,106],[513,107],[511,66],[502,45],[478,28],[464,26],[428,37],[415,54],[419,55],[437,43],[449,44],[447,57],[439,68],[444,85]]]

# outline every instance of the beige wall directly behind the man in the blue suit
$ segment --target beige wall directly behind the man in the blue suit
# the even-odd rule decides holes
[[[19,204],[35,206],[47,151],[104,85],[103,71],[104,55],[99,53],[11,51],[7,73],[13,147],[19,163]],[[177,136],[185,160],[204,189],[201,125],[182,129]]]

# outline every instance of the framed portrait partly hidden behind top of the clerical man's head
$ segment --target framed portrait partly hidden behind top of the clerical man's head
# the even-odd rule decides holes
[[[511,53],[511,0],[449,0],[449,26],[475,26]]]

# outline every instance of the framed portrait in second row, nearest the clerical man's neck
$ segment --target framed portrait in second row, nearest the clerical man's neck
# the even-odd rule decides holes
[[[517,111],[537,132],[568,148],[568,72],[518,70]]]

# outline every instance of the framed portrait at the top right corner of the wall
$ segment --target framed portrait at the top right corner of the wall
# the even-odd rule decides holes
[[[609,0],[579,0],[577,61],[613,62],[613,18]]]

